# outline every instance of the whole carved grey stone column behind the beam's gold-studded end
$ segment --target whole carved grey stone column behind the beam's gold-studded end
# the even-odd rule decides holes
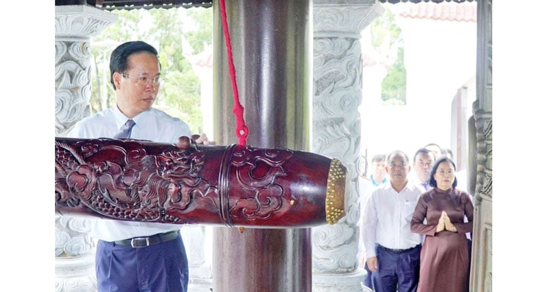
[[[347,214],[336,225],[313,228],[313,291],[363,291],[358,267],[360,216],[360,115],[362,60],[360,32],[383,8],[375,0],[314,1],[314,153],[338,158],[347,167]]]

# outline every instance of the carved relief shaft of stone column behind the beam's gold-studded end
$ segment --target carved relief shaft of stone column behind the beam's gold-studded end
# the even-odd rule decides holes
[[[314,43],[314,152],[338,157],[349,170],[347,214],[340,223],[314,230],[313,266],[318,271],[351,271],[356,268],[360,217],[356,168],[360,148],[358,106],[362,100],[360,42],[355,38],[315,38]]]

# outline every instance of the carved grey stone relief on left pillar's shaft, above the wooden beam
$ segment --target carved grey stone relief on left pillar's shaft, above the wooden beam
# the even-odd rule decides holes
[[[90,47],[86,42],[56,41],[56,133],[62,135],[90,115]]]

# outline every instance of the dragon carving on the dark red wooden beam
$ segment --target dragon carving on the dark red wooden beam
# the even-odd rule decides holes
[[[163,223],[185,223],[170,214],[187,210],[196,198],[218,205],[218,191],[198,177],[202,151],[148,155],[139,142],[129,150],[101,142],[56,142],[56,204],[82,204],[110,218]],[[85,162],[86,157],[97,159]]]

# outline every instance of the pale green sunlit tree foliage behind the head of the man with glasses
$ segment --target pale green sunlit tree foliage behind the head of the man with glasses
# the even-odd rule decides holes
[[[115,10],[117,23],[108,26],[91,40],[92,113],[115,104],[110,84],[110,53],[120,43],[141,40],[159,51],[165,79],[154,107],[179,117],[193,133],[202,131],[200,80],[187,56],[198,54],[212,42],[212,10],[207,8],[170,8]]]

